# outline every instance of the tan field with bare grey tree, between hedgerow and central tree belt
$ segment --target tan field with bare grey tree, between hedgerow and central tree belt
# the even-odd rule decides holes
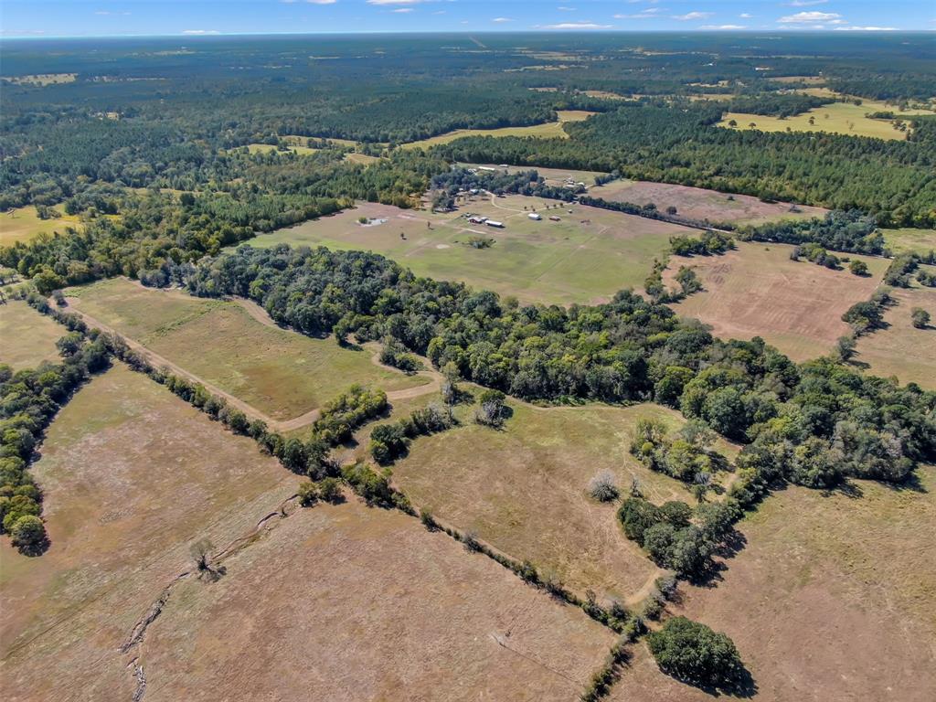
[[[461,427],[417,439],[393,467],[414,505],[541,572],[552,570],[577,592],[627,599],[659,571],[628,541],[616,507],[587,494],[593,475],[608,470],[622,491],[636,478],[655,503],[691,500],[683,485],[645,468],[629,453],[637,419],[674,429],[680,415],[665,407],[536,408],[510,402],[503,431],[470,418]],[[724,447],[724,445],[723,445]]]

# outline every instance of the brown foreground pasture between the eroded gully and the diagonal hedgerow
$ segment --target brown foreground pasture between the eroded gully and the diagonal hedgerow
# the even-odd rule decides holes
[[[284,641],[301,641],[284,646]],[[186,580],[150,627],[147,699],[578,697],[614,642],[563,606],[412,517],[344,505],[295,512]]]

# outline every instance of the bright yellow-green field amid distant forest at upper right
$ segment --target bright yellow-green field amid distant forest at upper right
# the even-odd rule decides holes
[[[785,132],[787,128],[795,132],[831,132],[833,134],[847,134],[853,137],[873,137],[875,139],[906,140],[906,132],[895,129],[888,120],[872,120],[866,114],[877,111],[896,111],[887,107],[883,102],[865,100],[861,105],[850,102],[833,102],[812,110],[807,110],[793,117],[780,119],[768,117],[763,114],[746,114],[743,112],[727,112],[719,126],[731,128],[731,120],[738,123],[738,129],[750,129],[748,125],[755,124],[754,129],[762,132]],[[810,124],[812,118],[813,124]]]

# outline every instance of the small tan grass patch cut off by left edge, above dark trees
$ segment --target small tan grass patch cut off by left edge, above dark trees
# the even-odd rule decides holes
[[[20,371],[44,360],[58,360],[55,342],[67,331],[22,300],[8,300],[0,305],[0,363]]]

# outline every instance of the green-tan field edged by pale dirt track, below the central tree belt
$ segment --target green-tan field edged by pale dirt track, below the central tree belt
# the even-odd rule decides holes
[[[308,412],[353,383],[395,390],[427,382],[374,365],[370,351],[261,324],[233,301],[121,278],[66,294],[80,312],[277,419]]]

